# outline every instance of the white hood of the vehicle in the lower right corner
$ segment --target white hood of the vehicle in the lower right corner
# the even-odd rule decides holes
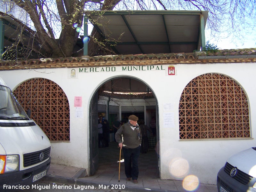
[[[228,158],[228,163],[240,171],[256,178],[256,151],[253,148],[236,153]]]

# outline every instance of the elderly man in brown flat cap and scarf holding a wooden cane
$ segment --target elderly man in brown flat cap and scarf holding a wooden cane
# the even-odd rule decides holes
[[[140,127],[137,124],[138,119],[135,115],[129,116],[129,122],[122,125],[115,135],[118,146],[123,148],[126,180],[130,181],[132,178],[133,183],[138,183],[138,160],[142,140]]]

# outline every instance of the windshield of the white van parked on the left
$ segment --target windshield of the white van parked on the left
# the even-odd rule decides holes
[[[0,119],[29,120],[9,87],[0,85]]]

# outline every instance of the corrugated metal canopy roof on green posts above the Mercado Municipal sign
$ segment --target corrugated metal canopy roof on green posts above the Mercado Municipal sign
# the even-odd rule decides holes
[[[208,11],[107,11],[88,19],[116,54],[188,53],[201,48],[200,15],[205,28]]]

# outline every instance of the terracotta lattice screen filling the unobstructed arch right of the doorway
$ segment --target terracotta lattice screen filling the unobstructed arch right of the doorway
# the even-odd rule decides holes
[[[248,138],[249,108],[231,78],[204,74],[184,88],[179,105],[180,139]]]

